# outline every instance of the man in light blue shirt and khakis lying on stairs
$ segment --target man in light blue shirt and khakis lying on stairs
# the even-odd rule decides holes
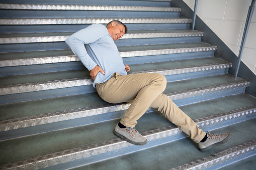
[[[207,150],[226,142],[231,136],[229,132],[221,135],[205,133],[170,98],[162,94],[166,87],[166,79],[163,75],[156,73],[127,75],[130,67],[123,64],[114,43],[125,33],[127,27],[120,21],[114,20],[107,27],[93,24],[66,39],[73,53],[90,70],[93,86],[102,99],[109,103],[131,103],[116,125],[114,133],[132,144],[146,144],[147,140],[134,127],[148,107],[152,107],[199,143],[200,150]]]

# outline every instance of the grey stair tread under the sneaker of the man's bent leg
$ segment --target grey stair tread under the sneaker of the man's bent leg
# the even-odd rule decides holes
[[[212,114],[218,114],[218,113],[229,111],[230,108],[238,109],[242,105],[243,106],[245,105],[246,107],[251,102],[252,98],[247,94],[239,94],[234,96],[234,100],[230,100],[230,99],[231,97],[227,96],[220,99],[213,99],[213,100],[204,101],[201,103],[182,106],[181,109],[184,110],[185,112],[187,111],[186,113],[189,116],[193,116],[193,119],[201,118],[201,117],[209,116],[209,114],[212,115]],[[247,101],[249,101],[249,103],[247,103]],[[255,103],[256,99],[254,98],[253,101]],[[216,111],[215,108],[219,108],[219,109]],[[152,119],[154,121],[152,121]],[[246,122],[249,122],[249,121],[251,120],[247,120]],[[5,147],[5,149],[2,149],[4,151],[3,154],[4,153],[5,153],[4,155],[12,154],[12,156],[11,155],[5,156],[6,158],[1,160],[0,164],[8,163],[8,161],[9,162],[17,161],[20,159],[39,156],[42,154],[48,154],[56,151],[61,151],[65,149],[70,149],[74,147],[79,147],[83,145],[89,145],[89,144],[94,144],[94,143],[98,143],[98,142],[102,142],[110,139],[115,139],[117,137],[112,133],[112,131],[115,125],[117,124],[117,122],[119,122],[119,119],[97,123],[97,125],[92,124],[87,126],[74,127],[74,128],[64,129],[60,131],[52,131],[48,133],[27,136],[23,138],[17,138],[9,141],[2,141],[1,147]],[[148,124],[149,122],[150,122],[150,126],[145,126],[145,124]],[[252,125],[252,127],[248,123],[245,123],[245,124],[247,124],[248,128],[252,128],[255,130],[254,128],[255,119],[252,122],[254,122],[254,125]],[[143,131],[148,131],[148,130],[161,128],[169,125],[172,125],[172,123],[170,123],[166,118],[164,118],[159,112],[155,111],[155,112],[151,112],[143,115],[143,117],[138,120],[136,129],[143,132]],[[243,129],[247,129],[247,128],[243,128]],[[231,133],[233,133],[233,131],[235,131],[235,129],[233,129]],[[252,131],[250,131],[250,133]],[[63,134],[66,134],[66,135],[63,136]],[[52,142],[53,140],[54,142]],[[35,149],[36,151],[33,152],[28,147],[36,148]],[[191,145],[190,147],[195,147],[195,146]],[[11,152],[11,150],[13,149],[17,151],[15,153]],[[195,149],[197,148],[195,147]]]

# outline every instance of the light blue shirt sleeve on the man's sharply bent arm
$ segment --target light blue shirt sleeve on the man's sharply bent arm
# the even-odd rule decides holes
[[[82,29],[66,39],[66,44],[73,53],[80,59],[88,70],[92,70],[97,64],[92,60],[84,47],[84,44],[94,43],[106,35],[106,27],[101,24],[94,24]]]

